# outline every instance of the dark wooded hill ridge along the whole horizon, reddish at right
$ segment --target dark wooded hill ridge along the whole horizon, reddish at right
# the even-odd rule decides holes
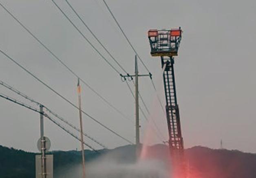
[[[108,154],[106,154],[108,153]],[[0,178],[34,178],[35,154],[14,148],[0,146]],[[63,174],[63,170],[79,165],[80,152],[54,151],[54,175]],[[102,155],[111,155],[118,163],[135,162],[135,147],[122,146],[113,150],[85,151],[86,161],[93,161]],[[166,160],[168,148],[155,145],[148,149],[152,157]],[[196,146],[185,150],[192,178],[256,178],[256,154],[238,150],[214,150]]]

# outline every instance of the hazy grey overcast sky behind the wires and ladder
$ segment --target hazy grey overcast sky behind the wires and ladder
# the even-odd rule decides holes
[[[150,56],[147,31],[181,26],[183,36],[179,56],[175,58],[177,97],[185,148],[223,147],[256,153],[255,41],[256,2],[254,0],[106,0],[117,21],[153,75],[139,79],[139,91],[149,108],[148,120],[154,120],[163,135],[155,134],[150,144],[168,140],[166,118],[157,101],[165,105],[160,58]],[[99,122],[135,142],[135,101],[125,82],[82,38],[51,1],[1,0],[38,39],[68,67],[117,107],[127,120],[82,84],[82,108]],[[93,39],[64,0],[56,3],[79,30],[115,66],[106,51]],[[122,36],[102,0],[75,0],[70,3],[102,41],[115,59],[134,73],[135,54]],[[0,49],[38,76],[57,92],[77,104],[77,77],[46,51],[2,7],[0,7]],[[40,84],[4,55],[0,54],[0,80],[43,103],[57,114],[79,125],[77,109]],[[139,73],[147,71],[139,62]],[[132,89],[132,83],[130,81]],[[0,86],[0,92],[30,103]],[[33,105],[38,107],[37,105]],[[0,144],[37,151],[40,116],[28,109],[0,99]],[[60,122],[62,123],[62,122]],[[154,133],[140,113],[141,141],[145,132]],[[151,122],[152,123],[152,122]],[[63,124],[63,123],[62,123]],[[83,115],[84,132],[108,148],[128,144]],[[68,128],[68,127],[66,127]],[[71,130],[75,135],[79,133]],[[51,150],[80,148],[79,142],[45,119],[44,132]],[[100,148],[87,138],[85,141]]]

